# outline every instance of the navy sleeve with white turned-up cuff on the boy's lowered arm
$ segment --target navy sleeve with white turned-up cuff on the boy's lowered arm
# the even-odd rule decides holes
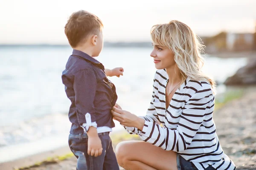
[[[79,125],[84,131],[89,127],[97,128],[94,108],[94,98],[96,94],[96,75],[91,69],[84,69],[76,72],[74,77],[74,92],[76,114]]]

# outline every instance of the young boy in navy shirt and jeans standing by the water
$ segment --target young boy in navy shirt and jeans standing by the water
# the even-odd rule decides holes
[[[74,12],[65,26],[73,48],[62,73],[71,101],[69,146],[77,158],[77,170],[119,170],[109,133],[115,127],[111,109],[117,100],[107,75],[122,75],[122,68],[105,70],[94,59],[102,51],[102,21],[87,11]]]

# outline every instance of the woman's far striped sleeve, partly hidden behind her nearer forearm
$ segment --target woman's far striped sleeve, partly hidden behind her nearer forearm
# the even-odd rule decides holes
[[[152,93],[151,101],[150,101],[148,110],[146,112],[146,115],[145,116],[139,116],[139,117],[145,119],[145,121],[150,121],[150,122],[155,122],[157,124],[160,124],[160,120],[159,120],[159,118],[157,116],[157,112],[156,112],[156,109],[155,109],[154,104],[153,104],[154,98],[155,98],[155,91],[156,91],[156,89],[155,89],[155,82],[156,82],[155,78],[156,78],[156,75],[157,74],[155,74],[155,77],[154,77],[153,93]],[[139,130],[136,127],[126,127],[126,126],[123,126],[123,127],[131,135],[139,133]]]

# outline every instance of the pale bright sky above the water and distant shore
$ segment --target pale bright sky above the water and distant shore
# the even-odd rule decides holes
[[[64,26],[80,9],[104,24],[105,41],[150,41],[150,29],[180,20],[199,36],[254,32],[256,0],[0,0],[0,44],[67,44]]]

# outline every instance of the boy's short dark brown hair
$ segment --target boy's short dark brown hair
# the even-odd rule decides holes
[[[103,28],[102,21],[94,14],[80,10],[71,14],[65,26],[65,34],[72,48],[83,43],[88,35],[97,34]]]

